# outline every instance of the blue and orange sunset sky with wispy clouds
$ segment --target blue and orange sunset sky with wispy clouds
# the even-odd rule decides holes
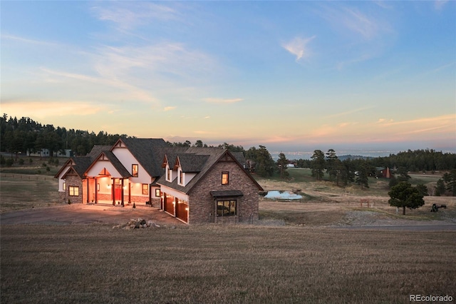
[[[1,1],[1,113],[277,151],[456,152],[456,1]]]

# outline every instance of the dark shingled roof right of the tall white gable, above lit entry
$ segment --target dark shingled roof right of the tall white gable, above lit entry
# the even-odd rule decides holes
[[[152,177],[162,175],[162,157],[154,153],[157,148],[169,147],[163,138],[120,138],[111,148],[111,151],[118,146],[118,143],[124,143],[128,151],[140,163],[142,168]]]

